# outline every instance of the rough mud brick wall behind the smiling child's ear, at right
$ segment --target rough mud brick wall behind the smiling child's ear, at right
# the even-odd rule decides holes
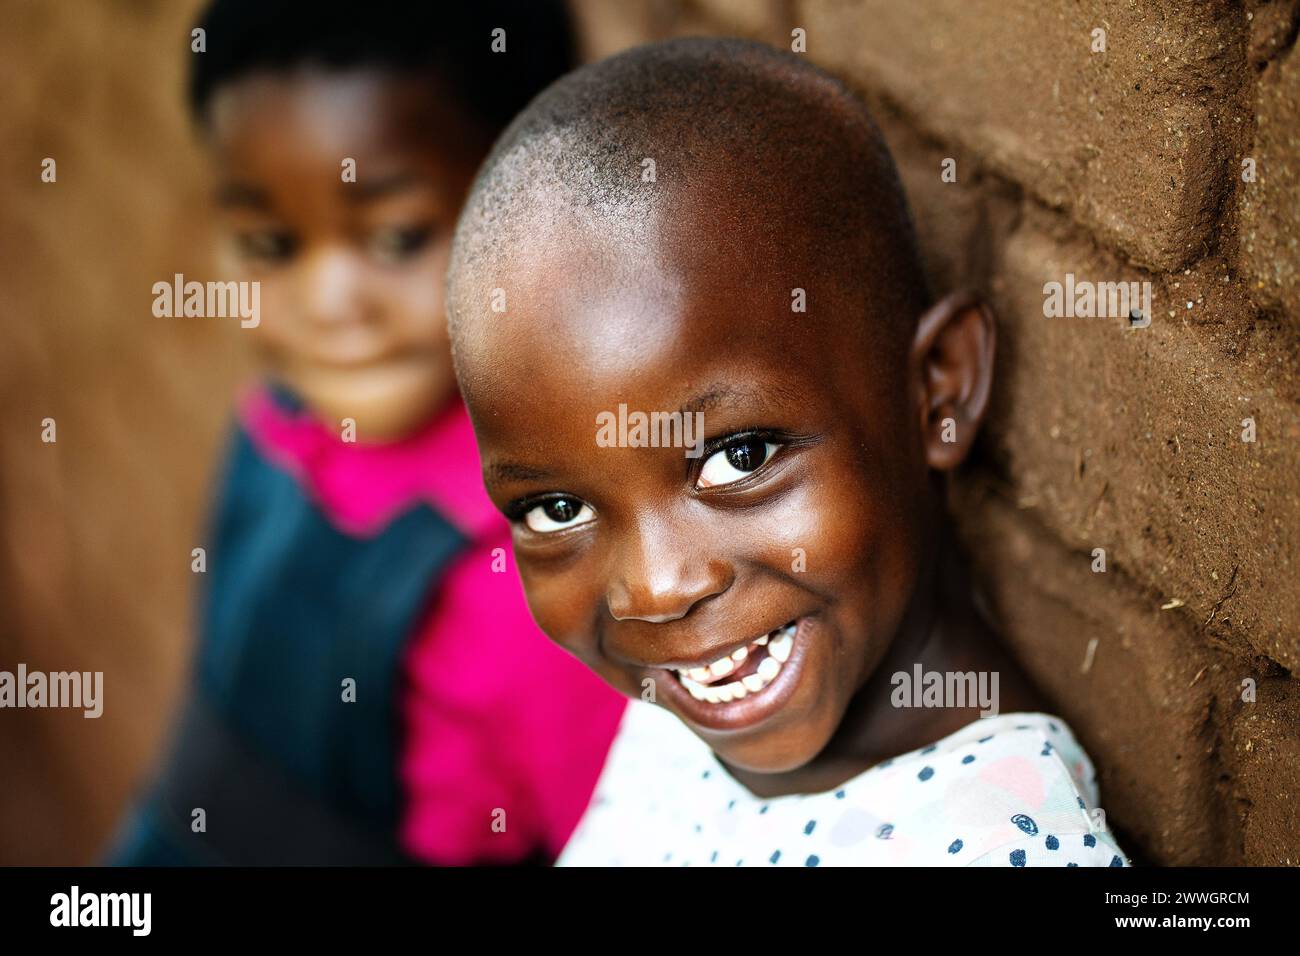
[[[1139,862],[1300,865],[1300,3],[576,9],[592,57],[801,29],[871,104],[936,290],[998,315],[952,506],[1109,822]],[[1149,326],[1045,317],[1067,273],[1150,282]]]

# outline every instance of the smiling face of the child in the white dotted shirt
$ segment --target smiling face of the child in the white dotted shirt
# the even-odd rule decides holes
[[[653,680],[732,766],[779,773],[826,747],[900,626],[928,520],[924,416],[914,369],[870,354],[875,317],[850,317],[887,307],[740,248],[733,221],[701,203],[649,260],[577,229],[529,237],[476,277],[482,308],[499,286],[508,310],[468,321],[458,349],[541,627],[628,696]],[[620,403],[703,411],[703,454],[601,446],[597,416]],[[789,623],[764,683],[784,640],[755,639]],[[689,692],[681,670],[742,648],[710,687],[760,689]]]

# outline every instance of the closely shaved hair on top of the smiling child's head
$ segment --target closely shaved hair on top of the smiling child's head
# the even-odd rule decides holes
[[[460,220],[452,321],[460,286],[491,287],[493,263],[540,232],[673,241],[701,208],[727,216],[755,269],[812,267],[792,272],[809,294],[832,281],[884,297],[876,311],[909,334],[927,304],[893,161],[858,99],[794,55],[694,38],[580,69],[511,124]]]

